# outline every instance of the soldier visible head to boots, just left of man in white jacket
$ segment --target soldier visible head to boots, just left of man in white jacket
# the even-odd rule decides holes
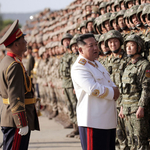
[[[76,118],[76,104],[77,99],[76,95],[73,93],[73,83],[71,80],[71,64],[72,64],[72,52],[69,49],[70,40],[72,36],[68,33],[65,33],[61,39],[61,44],[64,46],[65,54],[63,55],[60,63],[60,75],[62,78],[62,87],[64,89],[64,94],[67,100],[67,107],[69,112],[70,120],[73,123],[74,130],[67,135],[67,137],[74,137],[79,134],[78,126],[77,126],[77,118]]]

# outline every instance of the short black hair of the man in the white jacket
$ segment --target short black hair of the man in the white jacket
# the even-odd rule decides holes
[[[86,42],[84,42],[83,40],[88,39],[93,37],[95,39],[94,34],[92,33],[86,33],[86,34],[82,34],[77,38],[77,45],[86,45]]]

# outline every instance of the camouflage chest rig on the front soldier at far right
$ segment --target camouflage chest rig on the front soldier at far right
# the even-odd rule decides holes
[[[130,63],[122,76],[122,103],[126,107],[137,106],[141,97],[142,85],[140,82],[140,68],[145,61]]]

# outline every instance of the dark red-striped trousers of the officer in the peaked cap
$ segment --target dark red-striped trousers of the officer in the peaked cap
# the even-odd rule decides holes
[[[29,130],[28,134],[21,136],[18,134],[18,128],[2,127],[3,132],[3,150],[27,150],[30,140]]]

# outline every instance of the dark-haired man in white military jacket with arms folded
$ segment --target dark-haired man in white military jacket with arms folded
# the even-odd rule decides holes
[[[77,122],[83,150],[115,150],[116,100],[119,90],[96,60],[99,49],[91,33],[77,38],[79,57],[71,77],[78,99]]]

